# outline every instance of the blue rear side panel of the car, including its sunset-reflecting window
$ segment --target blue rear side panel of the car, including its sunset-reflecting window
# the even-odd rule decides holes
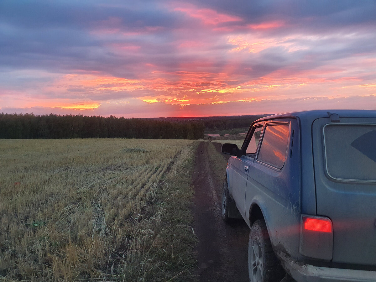
[[[265,122],[249,167],[245,199],[247,213],[252,205],[259,206],[273,246],[283,246],[290,254],[297,254],[299,248],[298,131],[296,118]]]

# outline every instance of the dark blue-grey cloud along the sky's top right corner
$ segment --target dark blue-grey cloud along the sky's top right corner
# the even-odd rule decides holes
[[[283,20],[296,27],[331,29],[375,23],[376,3],[357,0],[193,0],[198,6],[241,17],[246,23]]]

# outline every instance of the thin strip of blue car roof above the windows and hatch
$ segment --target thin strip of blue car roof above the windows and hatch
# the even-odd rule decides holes
[[[281,114],[268,115],[267,117],[259,118],[255,121],[273,120],[278,118],[296,117],[300,120],[314,121],[317,118],[327,118],[331,114],[338,114],[341,117],[371,117],[376,118],[376,110],[346,110],[346,109],[328,109],[328,110],[309,110],[298,112],[285,112]]]

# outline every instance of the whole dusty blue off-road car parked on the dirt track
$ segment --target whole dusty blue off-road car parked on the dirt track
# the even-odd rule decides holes
[[[251,229],[251,281],[280,266],[297,281],[376,281],[376,111],[271,115],[222,152],[235,155],[222,215]]]

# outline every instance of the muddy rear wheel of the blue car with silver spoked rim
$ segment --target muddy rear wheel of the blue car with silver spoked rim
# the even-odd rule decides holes
[[[280,281],[285,273],[274,255],[264,220],[256,220],[249,234],[248,272],[250,282]]]

